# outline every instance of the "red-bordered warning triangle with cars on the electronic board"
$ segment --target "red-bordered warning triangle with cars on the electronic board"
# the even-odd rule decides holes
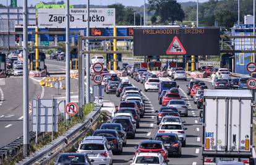
[[[166,54],[187,54],[187,51],[182,46],[179,38],[177,38],[177,36],[174,36],[173,41],[171,41],[171,44],[166,50]]]

